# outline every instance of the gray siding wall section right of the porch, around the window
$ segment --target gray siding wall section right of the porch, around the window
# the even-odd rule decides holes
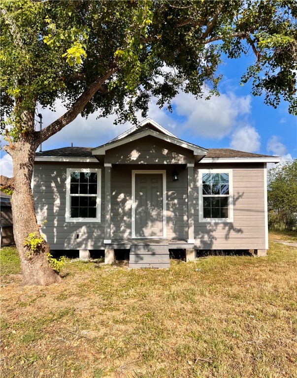
[[[198,214],[198,170],[233,170],[233,222],[200,222]],[[194,169],[195,248],[265,249],[264,165],[198,164]]]

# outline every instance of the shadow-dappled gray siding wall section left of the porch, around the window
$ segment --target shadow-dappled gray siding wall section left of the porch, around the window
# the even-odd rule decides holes
[[[66,169],[101,168],[101,222],[66,222]],[[104,249],[104,167],[97,163],[35,162],[33,197],[37,222],[51,249]]]

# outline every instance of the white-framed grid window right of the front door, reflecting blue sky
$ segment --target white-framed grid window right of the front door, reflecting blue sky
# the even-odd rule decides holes
[[[232,170],[199,170],[199,221],[233,221]]]

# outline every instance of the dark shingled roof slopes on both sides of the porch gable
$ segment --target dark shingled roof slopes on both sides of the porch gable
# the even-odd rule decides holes
[[[36,157],[41,156],[91,158],[93,155],[91,147],[64,147],[36,153]],[[272,158],[272,156],[252,154],[250,152],[231,150],[229,148],[210,148],[205,158]]]

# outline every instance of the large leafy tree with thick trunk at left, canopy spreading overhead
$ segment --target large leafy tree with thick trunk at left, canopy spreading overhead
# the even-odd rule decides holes
[[[31,190],[35,151],[78,114],[117,114],[119,122],[145,116],[179,92],[218,94],[221,56],[250,59],[242,84],[296,113],[297,3],[294,0],[0,2],[2,130],[13,160],[14,235],[24,284],[50,284],[49,267]],[[36,105],[68,110],[42,131]],[[32,235],[34,253],[24,241]],[[26,242],[27,243],[27,242]]]

